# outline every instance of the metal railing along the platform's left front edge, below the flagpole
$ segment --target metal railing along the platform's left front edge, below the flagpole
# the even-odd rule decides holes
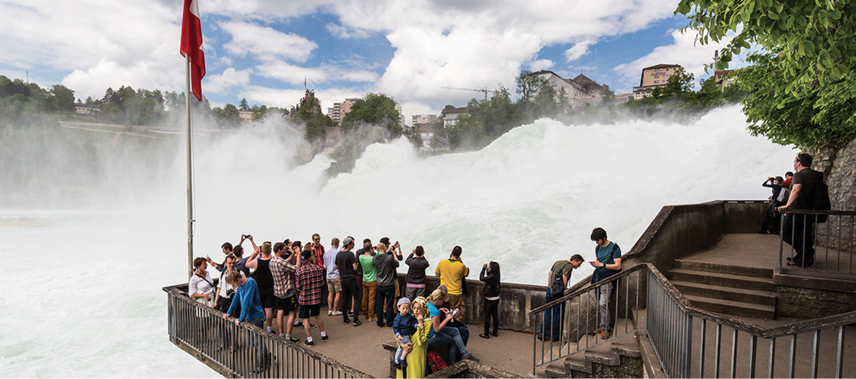
[[[190,299],[181,287],[163,289],[169,295],[169,341],[215,363],[223,376],[372,377],[254,325],[235,325],[234,318],[223,319],[223,312]]]

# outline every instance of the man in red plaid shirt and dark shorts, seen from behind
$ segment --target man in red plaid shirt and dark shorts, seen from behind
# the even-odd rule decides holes
[[[312,250],[303,250],[300,257],[310,259]],[[298,297],[298,317],[303,318],[303,328],[306,329],[306,346],[313,347],[312,342],[312,327],[309,324],[309,318],[315,318],[318,323],[318,329],[321,329],[321,341],[327,341],[327,333],[324,332],[324,320],[321,319],[321,288],[324,287],[324,268],[321,265],[312,263],[312,259],[306,262],[306,265],[300,266],[297,270],[297,281],[294,283],[297,290],[300,292]]]

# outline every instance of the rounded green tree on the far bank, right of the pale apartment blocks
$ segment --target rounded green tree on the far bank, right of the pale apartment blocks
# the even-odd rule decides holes
[[[401,114],[395,110],[391,97],[370,93],[354,102],[342,119],[342,131],[350,131],[360,125],[378,125],[386,128],[393,136],[401,135]]]

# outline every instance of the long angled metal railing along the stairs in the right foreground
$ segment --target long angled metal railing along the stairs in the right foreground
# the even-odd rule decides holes
[[[634,281],[636,289],[630,289]],[[623,304],[620,297],[615,299],[616,315],[621,314],[619,308],[624,306],[625,332],[588,345],[589,335],[594,331],[579,321],[571,324],[566,319],[562,324],[565,341],[567,337],[573,338],[575,330],[579,332],[580,329],[583,330],[583,338],[576,344],[563,345],[559,341],[556,352],[552,348],[553,342],[550,342],[550,352],[545,351],[546,338],[540,349],[536,341],[532,347],[533,373],[538,367],[558,359],[644,330],[669,377],[721,377],[725,373],[723,368],[728,370],[728,377],[856,376],[856,362],[853,359],[845,361],[845,357],[856,356],[856,347],[845,343],[847,335],[856,335],[856,312],[763,328],[745,319],[707,312],[691,305],[656,267],[648,263],[640,263],[591,287],[576,290],[562,299],[533,309],[529,314],[544,320],[545,310],[562,304],[567,307],[576,304],[574,311],[579,319],[588,311],[591,290],[607,283],[620,283],[616,284],[616,293],[621,293],[622,286],[626,286]],[[590,316],[586,314],[585,317],[587,322]],[[645,318],[644,325],[639,323],[642,317]],[[630,321],[634,323],[632,327]],[[538,331],[536,329],[536,335]],[[583,339],[586,342],[582,342]],[[781,348],[782,341],[788,343],[788,350]],[[724,353],[723,346],[728,347]]]

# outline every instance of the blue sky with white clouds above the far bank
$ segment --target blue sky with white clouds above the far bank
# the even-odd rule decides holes
[[[290,107],[315,90],[324,113],[380,92],[414,114],[462,107],[475,89],[514,93],[520,70],[580,73],[616,94],[643,67],[677,63],[696,79],[720,44],[701,46],[678,0],[197,0],[212,106]],[[185,89],[182,0],[0,0],[0,75],[75,96],[108,87]],[[733,67],[740,67],[740,57]],[[466,90],[449,90],[443,87]]]

